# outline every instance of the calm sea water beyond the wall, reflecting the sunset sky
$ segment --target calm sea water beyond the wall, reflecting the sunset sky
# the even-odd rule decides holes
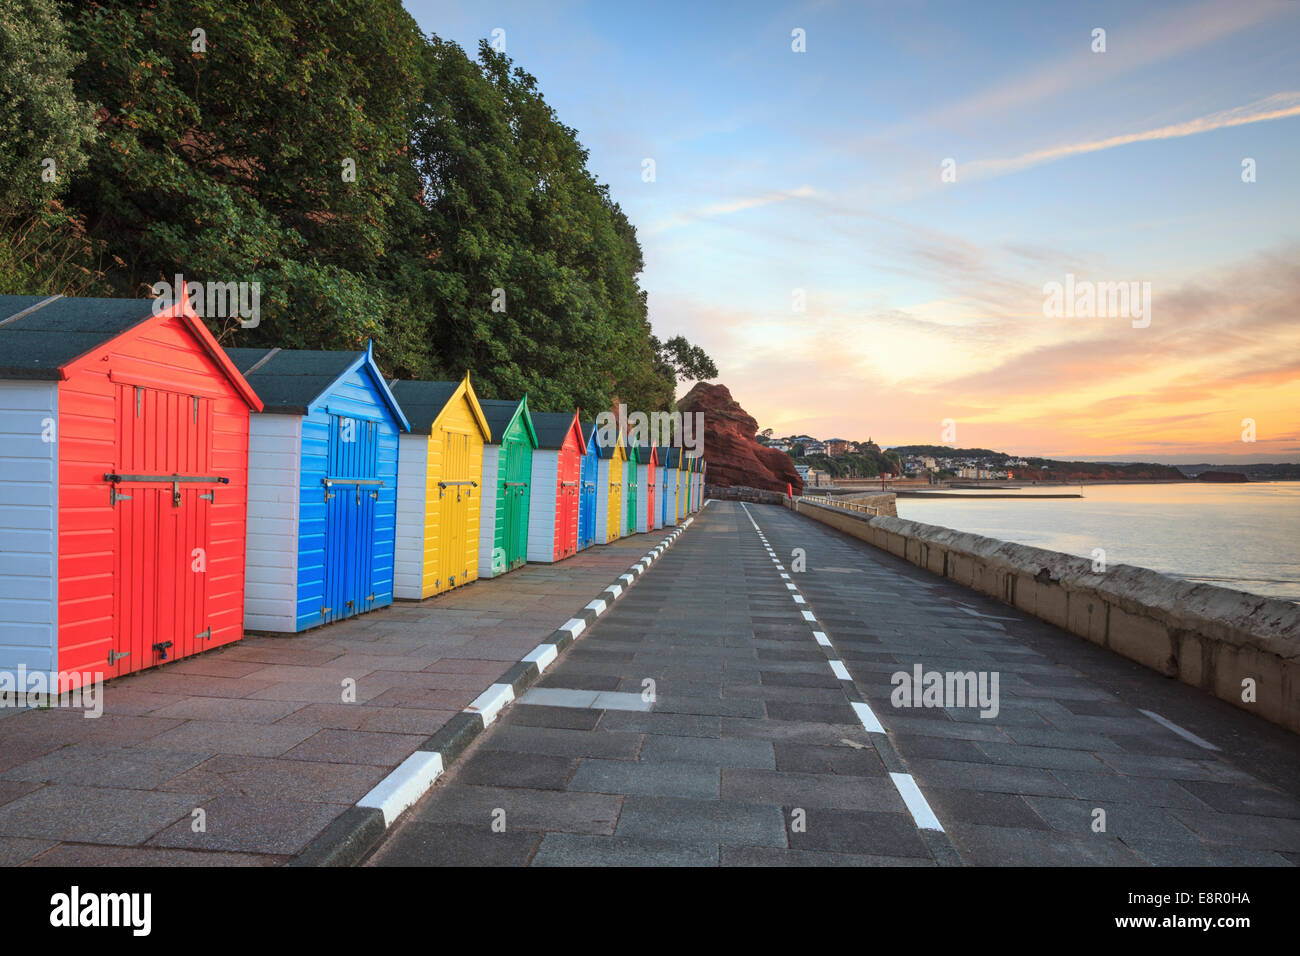
[[[1080,492],[1078,486],[1037,493]],[[978,496],[979,492],[962,492]],[[1300,601],[1300,483],[1097,485],[1083,498],[898,498],[898,516]]]

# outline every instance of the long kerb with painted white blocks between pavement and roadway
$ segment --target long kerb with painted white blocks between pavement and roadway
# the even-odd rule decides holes
[[[708,502],[705,502],[706,505]],[[694,522],[686,518],[651,551],[659,557]],[[651,555],[620,575],[573,618],[566,620],[521,661],[512,665],[465,710],[452,717],[416,752],[389,773],[356,805],[346,809],[322,830],[287,866],[355,866],[384,839],[402,813],[415,805],[465,749],[528,689],[551,662],[604,614],[650,567]],[[623,581],[620,584],[619,581]],[[551,648],[551,652],[547,652]],[[486,715],[486,717],[485,717]]]

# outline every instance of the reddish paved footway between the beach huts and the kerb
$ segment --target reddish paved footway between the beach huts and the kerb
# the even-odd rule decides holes
[[[0,865],[286,862],[663,537],[0,708]]]

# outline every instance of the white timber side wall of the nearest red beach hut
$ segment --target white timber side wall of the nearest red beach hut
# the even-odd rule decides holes
[[[0,381],[0,670],[58,669],[58,386]],[[104,501],[108,501],[105,485]]]

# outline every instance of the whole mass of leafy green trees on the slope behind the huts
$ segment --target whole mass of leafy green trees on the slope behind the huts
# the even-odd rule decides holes
[[[716,375],[651,334],[636,229],[537,81],[398,0],[0,0],[0,157],[72,174],[66,209],[5,181],[43,216],[0,243],[6,291],[257,282],[259,326],[207,317],[225,343],[373,338],[393,375],[538,410],[667,408]]]

